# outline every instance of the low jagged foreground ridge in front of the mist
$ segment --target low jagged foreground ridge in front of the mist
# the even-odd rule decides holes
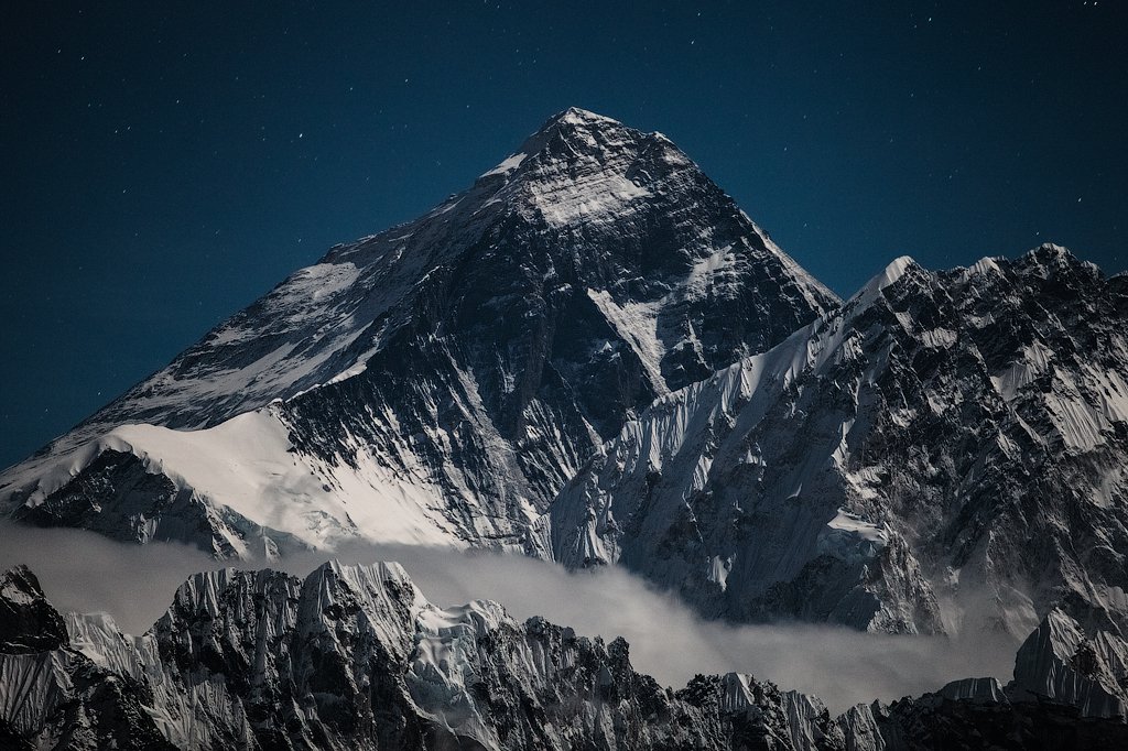
[[[197,574],[143,636],[59,613],[26,568],[0,612],[5,748],[884,749],[1117,748],[1128,741],[1128,643],[1060,612],[1020,651],[1015,680],[967,679],[829,715],[750,675],[661,688],[607,644],[496,603],[440,609],[396,564]],[[12,645],[28,645],[18,646]]]

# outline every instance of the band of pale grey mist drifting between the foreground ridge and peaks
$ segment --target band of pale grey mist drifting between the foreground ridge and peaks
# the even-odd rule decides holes
[[[114,542],[80,530],[0,524],[0,568],[26,564],[62,611],[105,611],[122,630],[146,631],[191,574],[236,565],[299,576],[336,557],[397,560],[437,606],[496,600],[518,619],[544,616],[576,633],[631,644],[635,670],[680,688],[696,673],[738,671],[782,689],[818,695],[832,714],[890,701],[960,678],[1010,679],[1016,643],[999,635],[960,638],[863,634],[782,624],[732,626],[696,617],[677,598],[619,568],[569,573],[519,556],[405,546],[354,546],[282,562],[218,562],[182,545]]]

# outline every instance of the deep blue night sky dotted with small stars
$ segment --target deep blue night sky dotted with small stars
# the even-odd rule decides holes
[[[901,254],[1125,267],[1123,2],[658,5],[0,3],[0,466],[570,105],[843,294]]]

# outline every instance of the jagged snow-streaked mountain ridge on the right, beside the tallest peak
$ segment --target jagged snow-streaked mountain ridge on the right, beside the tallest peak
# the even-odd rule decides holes
[[[1050,245],[900,258],[628,421],[527,546],[735,620],[1123,634],[1126,419],[1128,279]]]

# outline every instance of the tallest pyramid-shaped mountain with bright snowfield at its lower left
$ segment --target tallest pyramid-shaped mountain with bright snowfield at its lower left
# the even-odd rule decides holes
[[[511,545],[655,397],[837,303],[666,136],[573,108],[6,470],[0,510],[223,557]]]

